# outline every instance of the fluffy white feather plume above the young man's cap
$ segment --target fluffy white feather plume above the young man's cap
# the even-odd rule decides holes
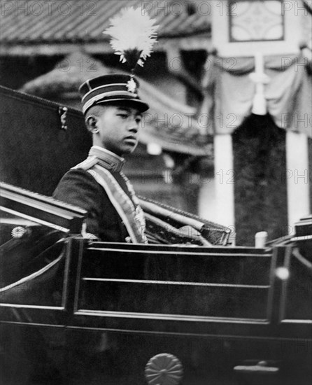
[[[111,46],[115,54],[120,55],[120,61],[134,67],[136,63],[143,66],[144,60],[153,52],[158,27],[155,20],[142,14],[141,8],[129,7],[111,18],[110,27],[103,33],[111,35]]]

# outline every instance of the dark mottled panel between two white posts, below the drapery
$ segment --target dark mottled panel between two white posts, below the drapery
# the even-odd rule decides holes
[[[253,245],[255,233],[269,239],[288,232],[285,131],[271,117],[251,115],[233,135],[236,242]]]

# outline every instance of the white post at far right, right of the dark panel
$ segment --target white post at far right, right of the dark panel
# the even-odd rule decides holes
[[[286,133],[286,179],[288,225],[294,234],[295,222],[310,214],[308,138],[300,132]]]

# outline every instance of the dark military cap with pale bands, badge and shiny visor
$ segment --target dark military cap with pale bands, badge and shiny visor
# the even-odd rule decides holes
[[[139,82],[130,75],[119,73],[97,76],[80,85],[83,113],[95,104],[118,104],[144,112],[148,104],[139,98]]]

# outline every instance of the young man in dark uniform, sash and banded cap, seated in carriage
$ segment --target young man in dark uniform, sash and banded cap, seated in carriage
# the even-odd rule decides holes
[[[148,109],[139,83],[128,75],[104,75],[80,86],[93,146],[88,158],[67,172],[53,196],[87,211],[86,231],[101,241],[146,243],[143,211],[122,173],[122,155],[138,143],[141,113]]]

